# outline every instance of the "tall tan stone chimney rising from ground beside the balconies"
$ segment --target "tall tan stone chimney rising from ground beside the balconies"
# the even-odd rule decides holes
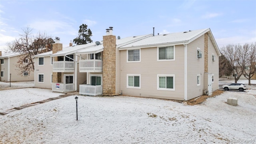
[[[102,86],[104,96],[116,95],[116,36],[112,35],[113,27],[106,29],[103,36],[103,74]]]

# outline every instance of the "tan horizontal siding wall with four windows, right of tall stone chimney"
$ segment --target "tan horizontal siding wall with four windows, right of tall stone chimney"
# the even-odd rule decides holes
[[[157,48],[142,48],[141,62],[126,62],[120,51],[120,91],[124,95],[184,100],[184,46],[175,47],[175,61],[157,61]],[[141,89],[127,88],[127,74],[141,75]],[[174,74],[175,91],[157,90],[157,74]]]

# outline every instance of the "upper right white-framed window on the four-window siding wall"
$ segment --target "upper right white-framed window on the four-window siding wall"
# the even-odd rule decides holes
[[[168,46],[164,48],[158,48],[157,51],[158,61],[175,60],[175,48],[174,46]]]

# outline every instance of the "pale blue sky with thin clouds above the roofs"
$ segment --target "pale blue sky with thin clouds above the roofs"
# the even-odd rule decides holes
[[[1,0],[0,50],[29,26],[64,47],[87,24],[93,42],[106,28],[121,38],[210,28],[219,46],[256,42],[256,0]]]

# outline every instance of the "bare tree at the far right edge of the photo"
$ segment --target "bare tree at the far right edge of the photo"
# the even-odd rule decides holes
[[[250,48],[248,56],[246,57],[246,67],[244,70],[245,77],[248,79],[248,85],[251,85],[251,78],[256,73],[256,42],[253,44],[244,44],[244,46]]]

